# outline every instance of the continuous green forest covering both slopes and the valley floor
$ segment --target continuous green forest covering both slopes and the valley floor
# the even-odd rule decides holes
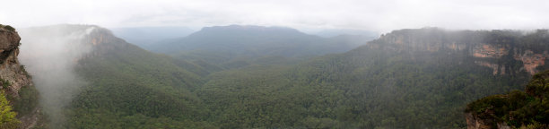
[[[263,49],[262,56],[244,50],[232,58],[223,54],[222,44],[210,44],[221,54],[172,58],[104,38],[109,40],[78,62],[75,70],[88,83],[64,107],[69,119],[63,126],[463,128],[467,102],[522,89],[529,78],[513,56],[480,58],[470,50],[481,43],[516,51],[545,47],[533,44],[547,39],[532,36],[541,32],[396,30],[343,54],[310,59]],[[396,44],[399,38],[406,40]],[[532,45],[522,44],[529,39]],[[447,43],[467,47],[450,49]],[[425,48],[430,46],[438,49]],[[477,61],[505,65],[507,71],[494,74]]]

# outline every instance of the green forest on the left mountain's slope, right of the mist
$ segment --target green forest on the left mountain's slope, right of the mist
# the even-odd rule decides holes
[[[67,113],[68,128],[175,128],[210,126],[191,91],[204,81],[201,67],[175,61],[125,42],[77,67],[88,82]],[[99,48],[99,47],[98,47]],[[189,69],[181,68],[185,65]],[[196,72],[196,73],[195,73]]]

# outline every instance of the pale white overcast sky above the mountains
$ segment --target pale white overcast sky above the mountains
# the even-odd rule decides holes
[[[5,0],[0,23],[103,27],[285,26],[299,30],[549,28],[547,0]]]

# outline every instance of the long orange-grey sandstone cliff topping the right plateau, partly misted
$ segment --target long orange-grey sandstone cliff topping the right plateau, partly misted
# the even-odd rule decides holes
[[[440,52],[465,55],[457,60],[473,61],[492,69],[494,75],[526,72],[545,67],[549,57],[547,30],[441,30],[438,28],[394,30],[369,43],[369,47],[398,52]]]

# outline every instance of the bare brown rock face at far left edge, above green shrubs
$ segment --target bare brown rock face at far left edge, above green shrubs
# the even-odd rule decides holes
[[[2,87],[13,97],[19,97],[19,90],[24,86],[30,86],[30,76],[19,64],[19,41],[21,38],[17,32],[0,29],[0,79],[9,83]]]

